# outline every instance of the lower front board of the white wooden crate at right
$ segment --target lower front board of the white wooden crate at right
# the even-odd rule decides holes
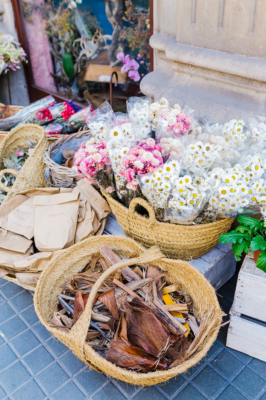
[[[230,311],[226,346],[266,361],[266,323]]]

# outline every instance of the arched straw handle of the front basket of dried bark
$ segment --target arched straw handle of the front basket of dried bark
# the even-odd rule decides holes
[[[129,258],[127,260],[121,260],[111,267],[107,268],[101,276],[97,279],[95,284],[91,288],[91,292],[89,294],[89,298],[87,300],[87,304],[85,306],[85,310],[82,315],[79,317],[75,325],[72,326],[69,335],[70,335],[70,346],[73,348],[73,351],[76,352],[77,348],[79,349],[79,354],[84,356],[84,345],[85,339],[87,336],[87,332],[89,329],[89,324],[91,322],[91,311],[95,296],[103,282],[114,272],[119,270],[120,268],[127,267],[130,265],[141,264],[146,262],[151,262],[155,260],[159,260],[160,258],[165,257],[163,253],[156,247],[152,246],[148,250],[145,250],[141,256],[137,258]]]

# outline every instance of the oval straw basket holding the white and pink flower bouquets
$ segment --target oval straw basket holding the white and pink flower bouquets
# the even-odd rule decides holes
[[[189,260],[210,251],[219,241],[219,236],[227,232],[234,218],[224,218],[216,222],[199,225],[178,225],[159,222],[151,205],[142,198],[133,198],[129,208],[102,191],[117,222],[127,236],[149,248],[156,245],[168,257]],[[149,213],[149,218],[135,212],[140,204]]]

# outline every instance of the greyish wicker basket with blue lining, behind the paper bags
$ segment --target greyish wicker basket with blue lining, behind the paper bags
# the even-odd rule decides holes
[[[60,165],[55,159],[61,161],[61,152],[65,149],[76,150],[82,142],[89,140],[91,133],[89,130],[81,130],[78,133],[61,136],[56,142],[50,144],[44,153],[44,162],[46,164],[45,176],[47,180],[52,179],[52,186],[63,186],[74,188],[77,181],[84,178],[84,175],[79,174],[64,165]]]

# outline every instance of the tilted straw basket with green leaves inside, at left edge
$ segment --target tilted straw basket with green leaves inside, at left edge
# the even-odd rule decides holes
[[[14,155],[18,148],[29,148],[28,141],[37,142],[30,156],[23,164],[20,171],[4,168],[3,159]],[[18,125],[13,128],[0,144],[0,188],[8,192],[4,202],[16,196],[22,190],[50,186],[44,176],[44,152],[48,141],[44,128],[36,124]],[[2,182],[4,174],[13,174],[16,180],[12,186],[5,186]]]

